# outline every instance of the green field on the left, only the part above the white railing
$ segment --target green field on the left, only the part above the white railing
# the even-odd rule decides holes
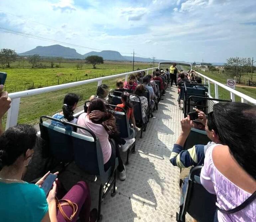
[[[85,63],[82,69],[77,69],[77,62],[80,61],[64,60],[60,68],[50,68],[50,61],[45,60],[41,62],[44,68],[31,68],[28,61],[20,62],[20,65],[16,61],[11,63],[11,68],[0,68],[0,71],[8,75],[5,87],[9,93],[132,71],[132,62],[105,61],[96,69]],[[135,62],[134,70],[150,67],[152,63]]]

